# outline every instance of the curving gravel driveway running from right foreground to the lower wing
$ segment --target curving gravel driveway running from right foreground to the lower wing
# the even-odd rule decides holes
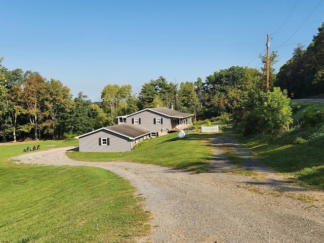
[[[249,158],[227,137],[215,139],[215,173],[190,175],[168,168],[128,162],[74,161],[72,148],[28,152],[15,159],[25,164],[94,166],[129,180],[146,198],[153,234],[139,242],[324,242],[324,193],[287,183]],[[224,173],[233,169],[218,145],[246,157],[246,169],[257,178]],[[317,198],[317,200],[299,200]]]

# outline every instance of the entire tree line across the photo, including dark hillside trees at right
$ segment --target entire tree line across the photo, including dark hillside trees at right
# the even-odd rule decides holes
[[[324,24],[324,23],[323,23]],[[195,120],[231,115],[238,131],[277,136],[292,122],[288,96],[324,93],[324,25],[306,50],[298,45],[292,59],[275,73],[278,53],[270,54],[270,88],[266,92],[266,57],[259,69],[232,66],[205,80],[168,82],[159,76],[134,94],[131,85],[106,85],[100,102],[80,92],[72,98],[60,80],[47,80],[38,72],[8,70],[0,59],[0,136],[17,139],[73,137],[92,129],[115,125],[116,117],[143,108],[165,106],[193,113]],[[275,88],[278,87],[278,88]]]

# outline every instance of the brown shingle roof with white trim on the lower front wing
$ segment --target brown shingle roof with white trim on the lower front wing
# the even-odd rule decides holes
[[[89,133],[82,134],[82,135],[77,136],[75,138],[76,139],[82,138],[82,137],[90,135],[92,133],[96,133],[96,132],[98,132],[100,130],[107,130],[107,131],[110,131],[112,133],[119,134],[121,136],[127,137],[129,139],[136,139],[136,138],[139,138],[141,136],[144,136],[146,134],[151,133],[151,132],[149,132],[149,131],[147,131],[147,130],[139,127],[139,126],[124,123],[124,124],[114,125],[114,126],[110,126],[110,127],[99,128],[99,129],[97,129],[95,131],[91,131]]]

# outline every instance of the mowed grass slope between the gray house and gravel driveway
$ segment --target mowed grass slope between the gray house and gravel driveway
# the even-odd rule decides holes
[[[151,138],[138,144],[129,152],[71,152],[68,157],[84,161],[131,161],[153,164],[191,173],[208,172],[214,159],[213,138],[217,134],[189,132],[183,139],[178,133]]]

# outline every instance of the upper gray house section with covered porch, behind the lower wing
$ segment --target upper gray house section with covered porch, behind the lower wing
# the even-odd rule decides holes
[[[151,132],[151,137],[179,131],[192,125],[190,113],[183,113],[167,107],[146,108],[138,112],[117,116],[118,124],[132,124]]]

